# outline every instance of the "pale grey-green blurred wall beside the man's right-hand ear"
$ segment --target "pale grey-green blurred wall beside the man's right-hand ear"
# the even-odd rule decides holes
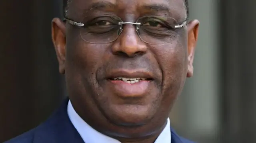
[[[200,21],[194,76],[170,115],[182,135],[199,143],[217,143],[220,128],[218,0],[189,0],[189,20]]]

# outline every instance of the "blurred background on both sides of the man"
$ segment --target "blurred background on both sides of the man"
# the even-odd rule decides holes
[[[198,143],[256,142],[256,1],[190,0],[200,20],[194,77],[170,114]],[[66,96],[51,41],[61,0],[0,1],[0,142],[35,127]]]

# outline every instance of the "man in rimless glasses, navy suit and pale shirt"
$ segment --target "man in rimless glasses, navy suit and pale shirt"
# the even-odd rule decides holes
[[[199,22],[187,22],[187,1],[66,3],[52,40],[69,99],[6,143],[192,143],[168,118],[193,74]]]

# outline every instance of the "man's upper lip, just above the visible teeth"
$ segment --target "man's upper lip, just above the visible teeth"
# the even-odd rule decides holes
[[[146,78],[146,79],[153,79],[152,73],[143,70],[114,70],[111,71],[107,76],[107,79],[110,78]]]

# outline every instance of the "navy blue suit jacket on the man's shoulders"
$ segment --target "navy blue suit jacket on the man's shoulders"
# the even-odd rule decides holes
[[[67,113],[68,99],[44,123],[5,143],[84,143]],[[172,143],[193,143],[171,128]]]

